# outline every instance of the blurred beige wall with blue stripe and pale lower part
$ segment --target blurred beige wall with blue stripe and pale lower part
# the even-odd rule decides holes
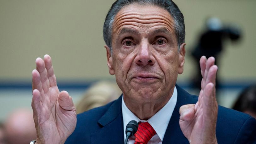
[[[18,108],[31,110],[31,72],[37,57],[49,54],[60,90],[77,103],[98,80],[114,81],[106,64],[103,22],[114,0],[0,0],[0,121]],[[256,81],[255,0],[174,0],[185,17],[186,61],[178,84],[198,94],[192,56],[207,20],[235,28],[239,37],[221,39],[218,102],[232,107]]]

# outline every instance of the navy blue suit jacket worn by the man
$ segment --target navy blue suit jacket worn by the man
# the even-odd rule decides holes
[[[190,95],[177,85],[176,88],[177,103],[165,132],[163,144],[189,143],[179,125],[179,108],[184,104],[196,103],[198,96]],[[121,102],[122,97],[119,97],[105,106],[78,114],[75,131],[65,143],[124,143]],[[248,114],[219,106],[216,136],[220,144],[256,143],[256,120]]]

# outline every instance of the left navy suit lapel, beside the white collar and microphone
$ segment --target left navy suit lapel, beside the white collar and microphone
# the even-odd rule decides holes
[[[91,134],[92,144],[124,143],[122,96],[119,97],[98,120],[102,128]]]

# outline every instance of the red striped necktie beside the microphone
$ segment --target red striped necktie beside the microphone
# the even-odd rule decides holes
[[[156,131],[148,122],[139,122],[137,132],[134,134],[134,144],[147,144],[147,142],[156,134]]]

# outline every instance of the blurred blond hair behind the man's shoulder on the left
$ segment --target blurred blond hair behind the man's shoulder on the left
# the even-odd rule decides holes
[[[76,113],[82,113],[92,108],[103,106],[122,94],[114,81],[99,81],[93,84],[76,105]]]

